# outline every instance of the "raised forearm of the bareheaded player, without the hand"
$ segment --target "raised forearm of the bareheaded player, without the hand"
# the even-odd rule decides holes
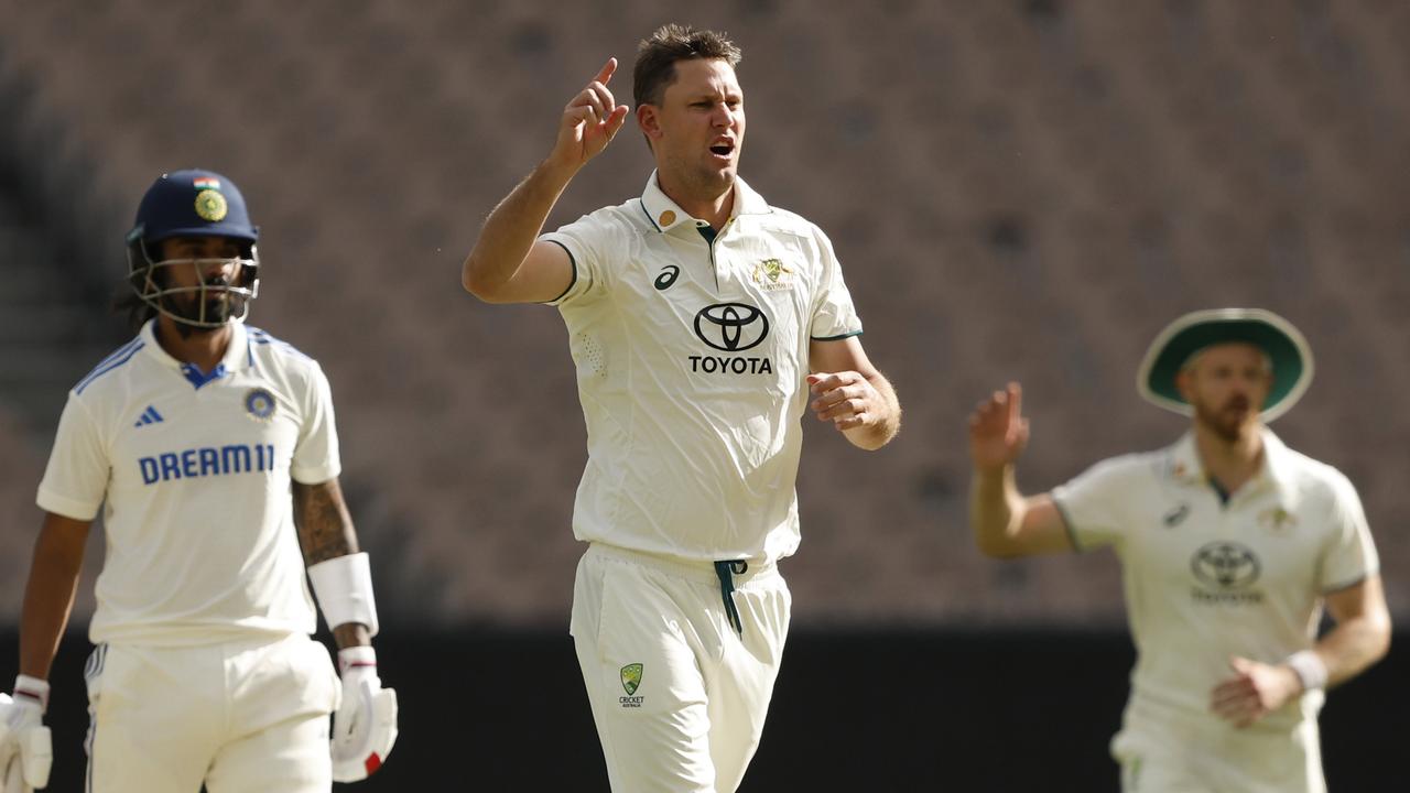
[[[489,299],[523,264],[543,230],[548,212],[572,181],[575,168],[540,162],[485,219],[475,247],[461,268],[467,292]]]

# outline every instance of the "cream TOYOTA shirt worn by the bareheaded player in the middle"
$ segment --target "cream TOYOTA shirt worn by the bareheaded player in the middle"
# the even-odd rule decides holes
[[[828,237],[743,179],[713,243],[661,192],[541,238],[572,257],[568,327],[587,542],[695,560],[788,556],[812,339],[862,333]]]

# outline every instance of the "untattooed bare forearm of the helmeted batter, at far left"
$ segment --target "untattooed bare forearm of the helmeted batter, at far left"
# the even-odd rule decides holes
[[[73,610],[85,539],[86,535],[70,536],[48,526],[39,532],[20,617],[20,674],[49,679],[54,655]]]

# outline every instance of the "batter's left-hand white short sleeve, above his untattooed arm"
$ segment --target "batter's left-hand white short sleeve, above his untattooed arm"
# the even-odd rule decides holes
[[[92,521],[107,495],[110,477],[103,433],[87,406],[70,392],[35,502],[45,512]]]

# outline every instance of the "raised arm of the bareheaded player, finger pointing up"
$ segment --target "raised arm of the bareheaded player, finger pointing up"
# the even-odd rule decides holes
[[[572,176],[606,148],[626,120],[629,107],[618,104],[608,90],[615,71],[616,58],[609,58],[568,102],[548,158],[485,219],[461,268],[467,292],[489,303],[541,303],[572,285],[568,253],[539,241],[539,233]]]

